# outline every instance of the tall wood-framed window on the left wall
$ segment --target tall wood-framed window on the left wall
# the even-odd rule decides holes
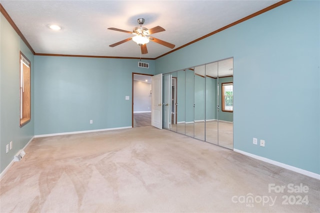
[[[31,120],[31,62],[21,51],[19,57],[19,105],[19,126],[22,127]]]

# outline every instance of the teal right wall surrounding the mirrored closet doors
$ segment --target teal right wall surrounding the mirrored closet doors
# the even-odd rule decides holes
[[[319,4],[285,3],[157,59],[155,72],[233,57],[234,149],[320,174]]]

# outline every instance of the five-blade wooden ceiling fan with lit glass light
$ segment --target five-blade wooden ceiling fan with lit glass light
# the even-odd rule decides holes
[[[174,44],[168,43],[166,41],[162,41],[162,40],[157,39],[155,37],[148,36],[150,34],[165,31],[165,29],[163,29],[160,26],[155,26],[151,29],[147,29],[147,28],[143,27],[142,24],[144,23],[144,18],[138,18],[137,22],[140,24],[140,26],[134,27],[132,32],[127,31],[127,30],[123,30],[123,29],[113,28],[113,27],[108,28],[111,30],[126,32],[126,33],[130,33],[130,34],[134,35],[133,37],[126,38],[122,41],[116,42],[116,43],[111,44],[109,46],[114,47],[114,46],[117,46],[121,43],[127,42],[129,40],[133,40],[134,42],[136,42],[140,46],[142,54],[148,53],[148,50],[146,48],[146,43],[148,43],[149,41],[153,41],[155,43],[169,47],[171,49],[174,48],[174,46],[175,46]]]

